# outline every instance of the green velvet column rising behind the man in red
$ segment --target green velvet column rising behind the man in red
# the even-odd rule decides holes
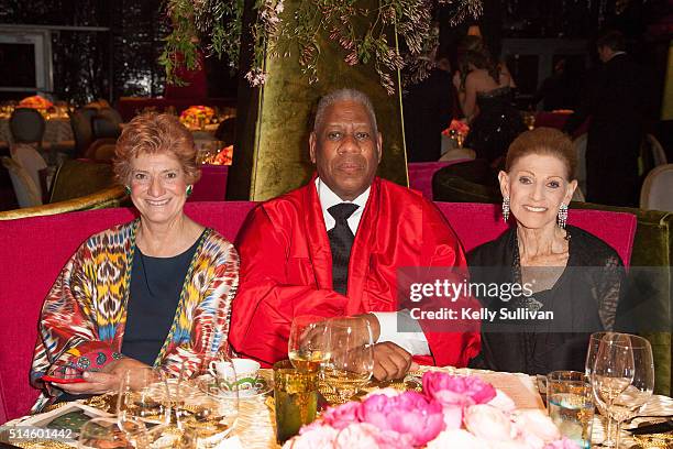
[[[251,3],[246,1],[244,23],[251,14]],[[300,0],[286,0],[280,19],[293,20],[299,4]],[[318,83],[309,84],[295,51],[289,57],[267,55],[266,83],[262,88],[252,88],[242,78],[246,72],[243,67],[250,67],[252,56],[249,37],[243,36],[236,145],[229,171],[228,199],[266,200],[306,184],[313,172],[308,138],[318,100],[342,87],[362,90],[374,103],[378,130],[383,133],[384,155],[378,175],[408,185],[399,77],[396,94],[389,96],[371,65],[349,66],[343,61],[345,52],[327,36],[318,36]]]

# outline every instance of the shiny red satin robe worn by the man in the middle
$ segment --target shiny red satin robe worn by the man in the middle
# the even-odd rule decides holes
[[[466,273],[463,250],[434,205],[415,190],[375,178],[353,242],[346,296],[332,291],[332,258],[313,179],[256,207],[236,248],[240,287],[229,340],[265,364],[287,359],[294,316],[395,311],[397,269],[450,266]],[[464,304],[478,307],[471,298]],[[465,366],[479,352],[479,328],[429,331],[426,364]]]

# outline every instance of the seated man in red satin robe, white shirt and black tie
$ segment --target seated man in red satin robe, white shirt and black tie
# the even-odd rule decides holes
[[[360,315],[372,326],[378,380],[404,376],[413,359],[466,365],[479,352],[478,321],[438,328],[400,310],[398,269],[449,267],[464,276],[465,256],[431,201],[376,177],[382,135],[369,99],[353,89],[323,97],[309,144],[317,175],[255,208],[239,233],[233,349],[271,364],[287,358],[295,316]]]

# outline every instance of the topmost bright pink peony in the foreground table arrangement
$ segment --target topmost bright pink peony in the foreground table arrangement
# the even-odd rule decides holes
[[[456,376],[438,371],[423,374],[423,392],[443,406],[466,407],[496,397],[496,390],[476,376]]]

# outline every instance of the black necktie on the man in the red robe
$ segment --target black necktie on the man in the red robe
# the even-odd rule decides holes
[[[332,250],[332,288],[345,295],[349,285],[349,259],[355,236],[346,221],[358,208],[352,202],[341,202],[328,209],[336,225],[328,231],[330,249]]]

